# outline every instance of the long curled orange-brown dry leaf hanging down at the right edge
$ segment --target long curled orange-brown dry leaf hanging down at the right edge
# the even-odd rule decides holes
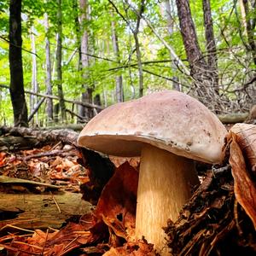
[[[256,229],[256,184],[247,172],[247,166],[243,158],[241,148],[236,142],[236,134],[230,131],[228,136],[231,139],[230,166],[232,168],[232,175],[235,182],[234,191],[236,200],[252,219],[254,228]]]

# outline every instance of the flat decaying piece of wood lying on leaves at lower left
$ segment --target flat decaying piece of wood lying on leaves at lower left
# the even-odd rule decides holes
[[[91,211],[90,203],[81,197],[81,194],[70,192],[52,195],[0,193],[0,230],[9,225],[26,230],[60,229],[67,218]]]

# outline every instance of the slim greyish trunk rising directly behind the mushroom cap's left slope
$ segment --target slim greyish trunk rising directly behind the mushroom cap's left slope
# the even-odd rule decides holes
[[[113,10],[111,10],[111,15],[113,18]],[[116,57],[116,61],[120,63],[119,61],[119,40],[117,36],[117,32],[115,29],[115,22],[111,21],[111,28],[112,28],[112,43],[113,43],[113,52]],[[116,93],[116,100],[117,102],[124,102],[124,91],[123,91],[123,78],[121,75],[116,76],[115,78],[115,93]]]

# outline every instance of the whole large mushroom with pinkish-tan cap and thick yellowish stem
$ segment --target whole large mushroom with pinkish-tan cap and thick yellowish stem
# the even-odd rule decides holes
[[[221,162],[226,133],[201,102],[165,90],[104,109],[85,125],[78,143],[104,154],[141,156],[136,235],[161,251],[162,227],[168,218],[177,220],[199,183],[194,160]]]

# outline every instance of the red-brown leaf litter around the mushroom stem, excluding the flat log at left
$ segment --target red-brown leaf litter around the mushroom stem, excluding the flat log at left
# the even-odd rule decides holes
[[[0,255],[157,255],[152,244],[134,236],[138,159],[111,158],[118,166],[114,172],[105,160],[101,167],[92,165],[89,159],[97,156],[81,148],[79,153],[69,149],[73,153],[69,156],[53,154],[24,161],[28,155],[53,150],[47,147],[19,154],[2,152],[1,174],[54,183],[73,192],[82,184],[83,196],[93,197],[95,210],[67,221],[61,230],[0,230]],[[231,129],[225,151],[223,166],[212,170],[205,166],[202,183],[178,220],[166,220],[166,243],[172,255],[256,253],[255,125]],[[95,168],[105,168],[107,176],[95,174]]]

